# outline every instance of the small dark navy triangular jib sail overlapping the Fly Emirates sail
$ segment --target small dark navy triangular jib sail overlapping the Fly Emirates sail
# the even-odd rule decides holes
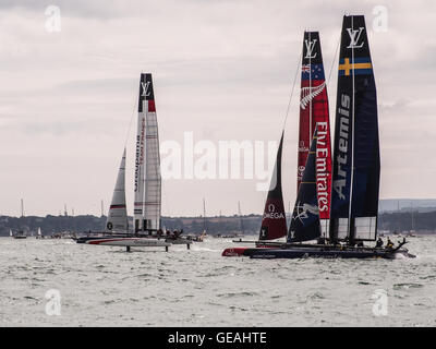
[[[318,197],[316,194],[316,144],[317,135],[312,140],[311,149],[299,186],[288,242],[308,241],[320,237]]]

